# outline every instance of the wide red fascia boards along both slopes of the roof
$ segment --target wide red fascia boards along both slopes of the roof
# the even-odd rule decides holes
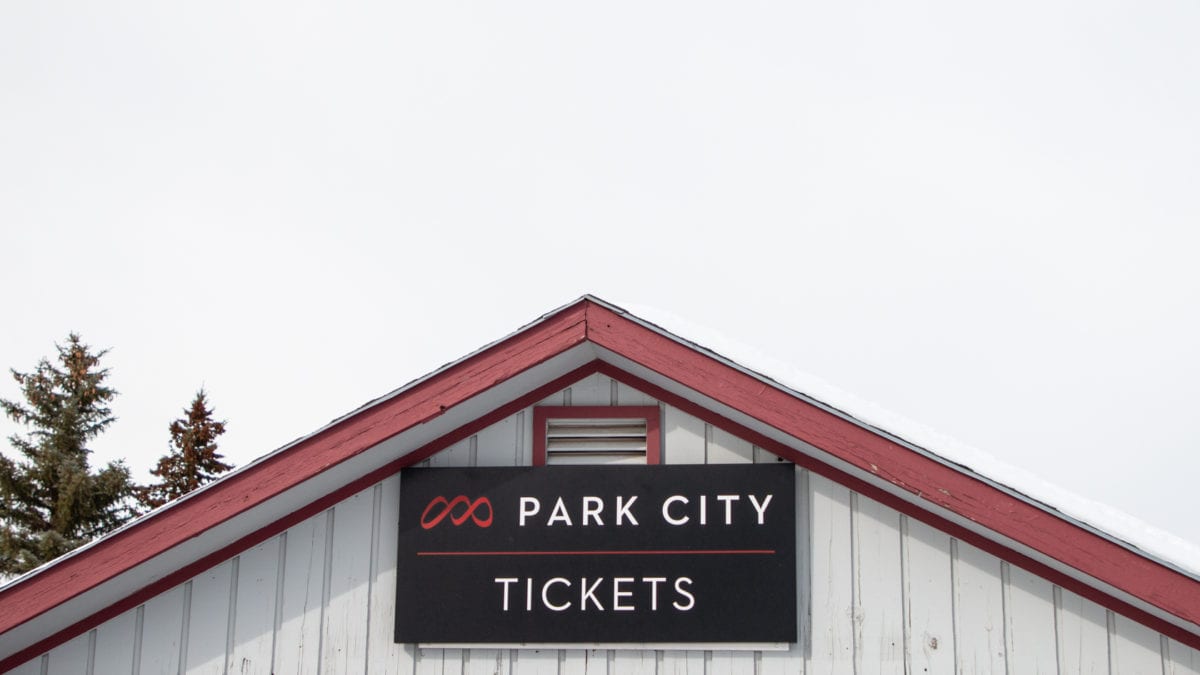
[[[586,294],[334,419],[178,503],[0,587],[0,602],[6,609],[0,616],[0,634],[584,342],[811,443],[914,495],[918,501],[949,509],[1171,616],[1200,625],[1200,583],[1168,562],[618,305]],[[1038,514],[1048,518],[1033,531],[1028,520]],[[1194,643],[1200,647],[1200,634]]]

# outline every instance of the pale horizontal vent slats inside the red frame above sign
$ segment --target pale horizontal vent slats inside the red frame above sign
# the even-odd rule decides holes
[[[552,464],[646,461],[646,419],[551,419],[546,459]]]

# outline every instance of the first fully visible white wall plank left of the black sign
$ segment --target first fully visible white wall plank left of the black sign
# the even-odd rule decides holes
[[[367,578],[371,572],[373,488],[334,507],[334,546],[322,637],[322,671],[364,673],[367,647]]]

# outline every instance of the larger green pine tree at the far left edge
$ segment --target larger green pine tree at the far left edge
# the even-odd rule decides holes
[[[132,518],[133,483],[121,461],[98,472],[88,466],[88,443],[115,417],[104,386],[103,350],[92,354],[79,335],[55,345],[58,364],[38,362],[32,372],[11,370],[24,402],[0,400],[26,436],[8,437],[23,456],[0,455],[0,573],[28,572]]]

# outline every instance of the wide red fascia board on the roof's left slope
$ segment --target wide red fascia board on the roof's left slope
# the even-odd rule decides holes
[[[0,587],[0,634],[584,341],[580,298]],[[445,386],[442,386],[445,381]],[[287,461],[284,461],[287,460]],[[131,542],[133,545],[131,546]],[[132,548],[133,552],[126,551]]]

